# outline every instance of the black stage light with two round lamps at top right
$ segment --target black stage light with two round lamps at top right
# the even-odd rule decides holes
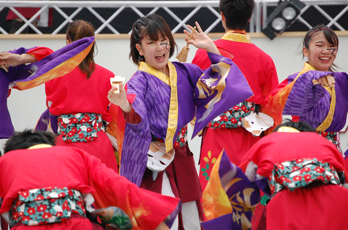
[[[267,18],[267,27],[262,30],[270,40],[276,37],[276,33],[283,33],[296,20],[301,9],[305,4],[299,0],[283,0],[279,1],[278,6]]]

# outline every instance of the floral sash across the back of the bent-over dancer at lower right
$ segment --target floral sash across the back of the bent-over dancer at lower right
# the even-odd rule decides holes
[[[298,159],[274,165],[269,178],[272,197],[282,188],[290,191],[304,187],[314,180],[340,184],[339,175],[333,165],[317,159]]]

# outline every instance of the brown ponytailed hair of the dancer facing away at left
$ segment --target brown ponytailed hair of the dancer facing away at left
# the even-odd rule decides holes
[[[66,35],[67,40],[70,42],[75,42],[82,38],[93,37],[94,27],[90,22],[84,20],[75,20],[69,24]],[[87,79],[95,69],[94,47],[96,48],[95,42],[93,42],[86,58],[79,64],[81,71],[87,74]]]

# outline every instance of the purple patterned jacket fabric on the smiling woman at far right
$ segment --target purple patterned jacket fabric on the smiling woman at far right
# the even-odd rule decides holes
[[[320,84],[313,85],[312,80],[331,74],[335,77],[336,107],[332,124],[326,131],[338,132],[346,124],[348,112],[348,75],[347,73],[333,73],[311,70],[301,74],[294,83],[286,101],[283,115],[295,115],[300,121],[309,123],[317,128],[330,110],[331,95]],[[297,73],[288,76],[288,84],[293,82]]]

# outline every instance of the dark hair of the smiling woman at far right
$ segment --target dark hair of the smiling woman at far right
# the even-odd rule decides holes
[[[316,32],[317,31],[317,32]],[[328,40],[328,42],[334,46],[337,47],[337,51],[336,54],[339,50],[339,38],[337,37],[337,34],[328,26],[325,26],[323,24],[321,25],[317,25],[315,27],[313,27],[312,29],[310,29],[306,35],[304,36],[303,40],[302,40],[302,58],[304,58],[304,54],[303,54],[303,48],[306,47],[307,50],[309,50],[309,42],[312,40],[313,34],[316,34],[318,32],[322,32],[326,38],[326,40]],[[300,44],[301,46],[301,44]],[[329,71],[336,71],[336,69],[334,67],[338,68],[337,65],[332,64],[332,66],[330,66]]]

